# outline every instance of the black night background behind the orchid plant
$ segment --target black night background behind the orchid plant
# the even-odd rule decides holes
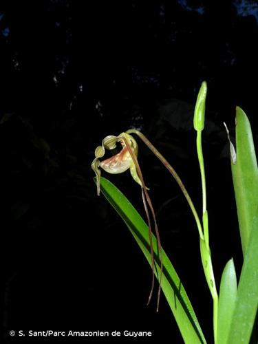
[[[203,142],[217,285],[231,257],[239,274],[223,121],[233,136],[235,106],[242,107],[257,147],[257,5],[246,3],[1,1],[3,343],[22,342],[10,330],[147,330],[151,338],[127,341],[182,343],[164,297],[158,314],[155,295],[146,305],[151,270],[122,220],[96,196],[90,163],[105,136],[136,127],[178,171],[201,211],[191,122],[202,80],[208,83]],[[167,171],[139,147],[162,245],[212,343],[212,301],[193,216]],[[129,173],[103,175],[144,216]],[[23,338],[52,342],[44,339]],[[78,339],[109,341],[121,339]]]

